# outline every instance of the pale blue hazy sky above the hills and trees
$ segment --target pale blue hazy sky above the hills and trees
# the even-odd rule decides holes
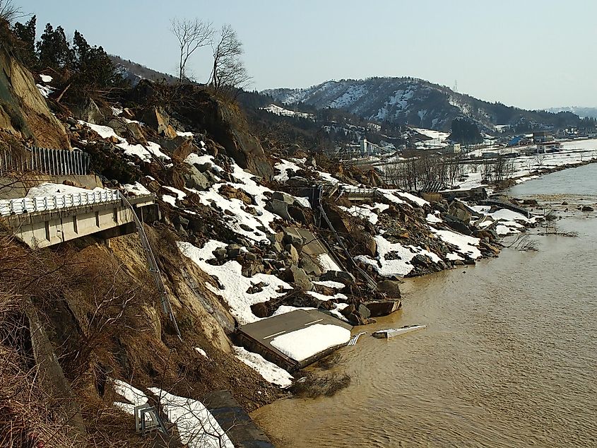
[[[230,23],[250,88],[414,76],[525,108],[597,106],[595,0],[14,0],[92,45],[175,73],[173,17]],[[189,63],[198,81],[211,54]]]

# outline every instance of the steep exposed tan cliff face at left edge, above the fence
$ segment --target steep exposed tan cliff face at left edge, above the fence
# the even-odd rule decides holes
[[[50,112],[31,73],[0,45],[0,128],[36,146],[71,148],[64,126]]]

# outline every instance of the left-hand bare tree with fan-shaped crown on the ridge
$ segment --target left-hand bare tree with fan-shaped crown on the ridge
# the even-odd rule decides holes
[[[213,40],[211,23],[203,22],[199,18],[173,18],[170,20],[170,31],[178,40],[179,64],[178,79],[182,83],[187,68],[187,61],[196,49],[210,45]]]

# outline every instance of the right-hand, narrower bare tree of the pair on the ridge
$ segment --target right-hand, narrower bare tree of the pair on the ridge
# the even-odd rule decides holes
[[[212,44],[213,67],[210,83],[215,90],[222,88],[240,88],[251,77],[240,59],[244,53],[242,42],[230,25],[223,25],[220,38]]]

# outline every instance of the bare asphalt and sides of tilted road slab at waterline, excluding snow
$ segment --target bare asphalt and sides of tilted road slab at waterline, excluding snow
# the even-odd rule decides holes
[[[247,350],[259,353],[266,360],[292,372],[293,370],[312,364],[312,362],[323,358],[339,347],[345,345],[341,344],[340,346],[329,347],[300,362],[289,358],[271,345],[271,341],[276,336],[305,329],[305,327],[313,324],[336,325],[348,330],[353,328],[353,326],[347,322],[336,319],[336,317],[332,317],[319,310],[295,310],[289,313],[280,314],[279,316],[268,317],[267,319],[253,322],[252,324],[243,325],[238,329],[238,338],[240,343],[242,343]]]

